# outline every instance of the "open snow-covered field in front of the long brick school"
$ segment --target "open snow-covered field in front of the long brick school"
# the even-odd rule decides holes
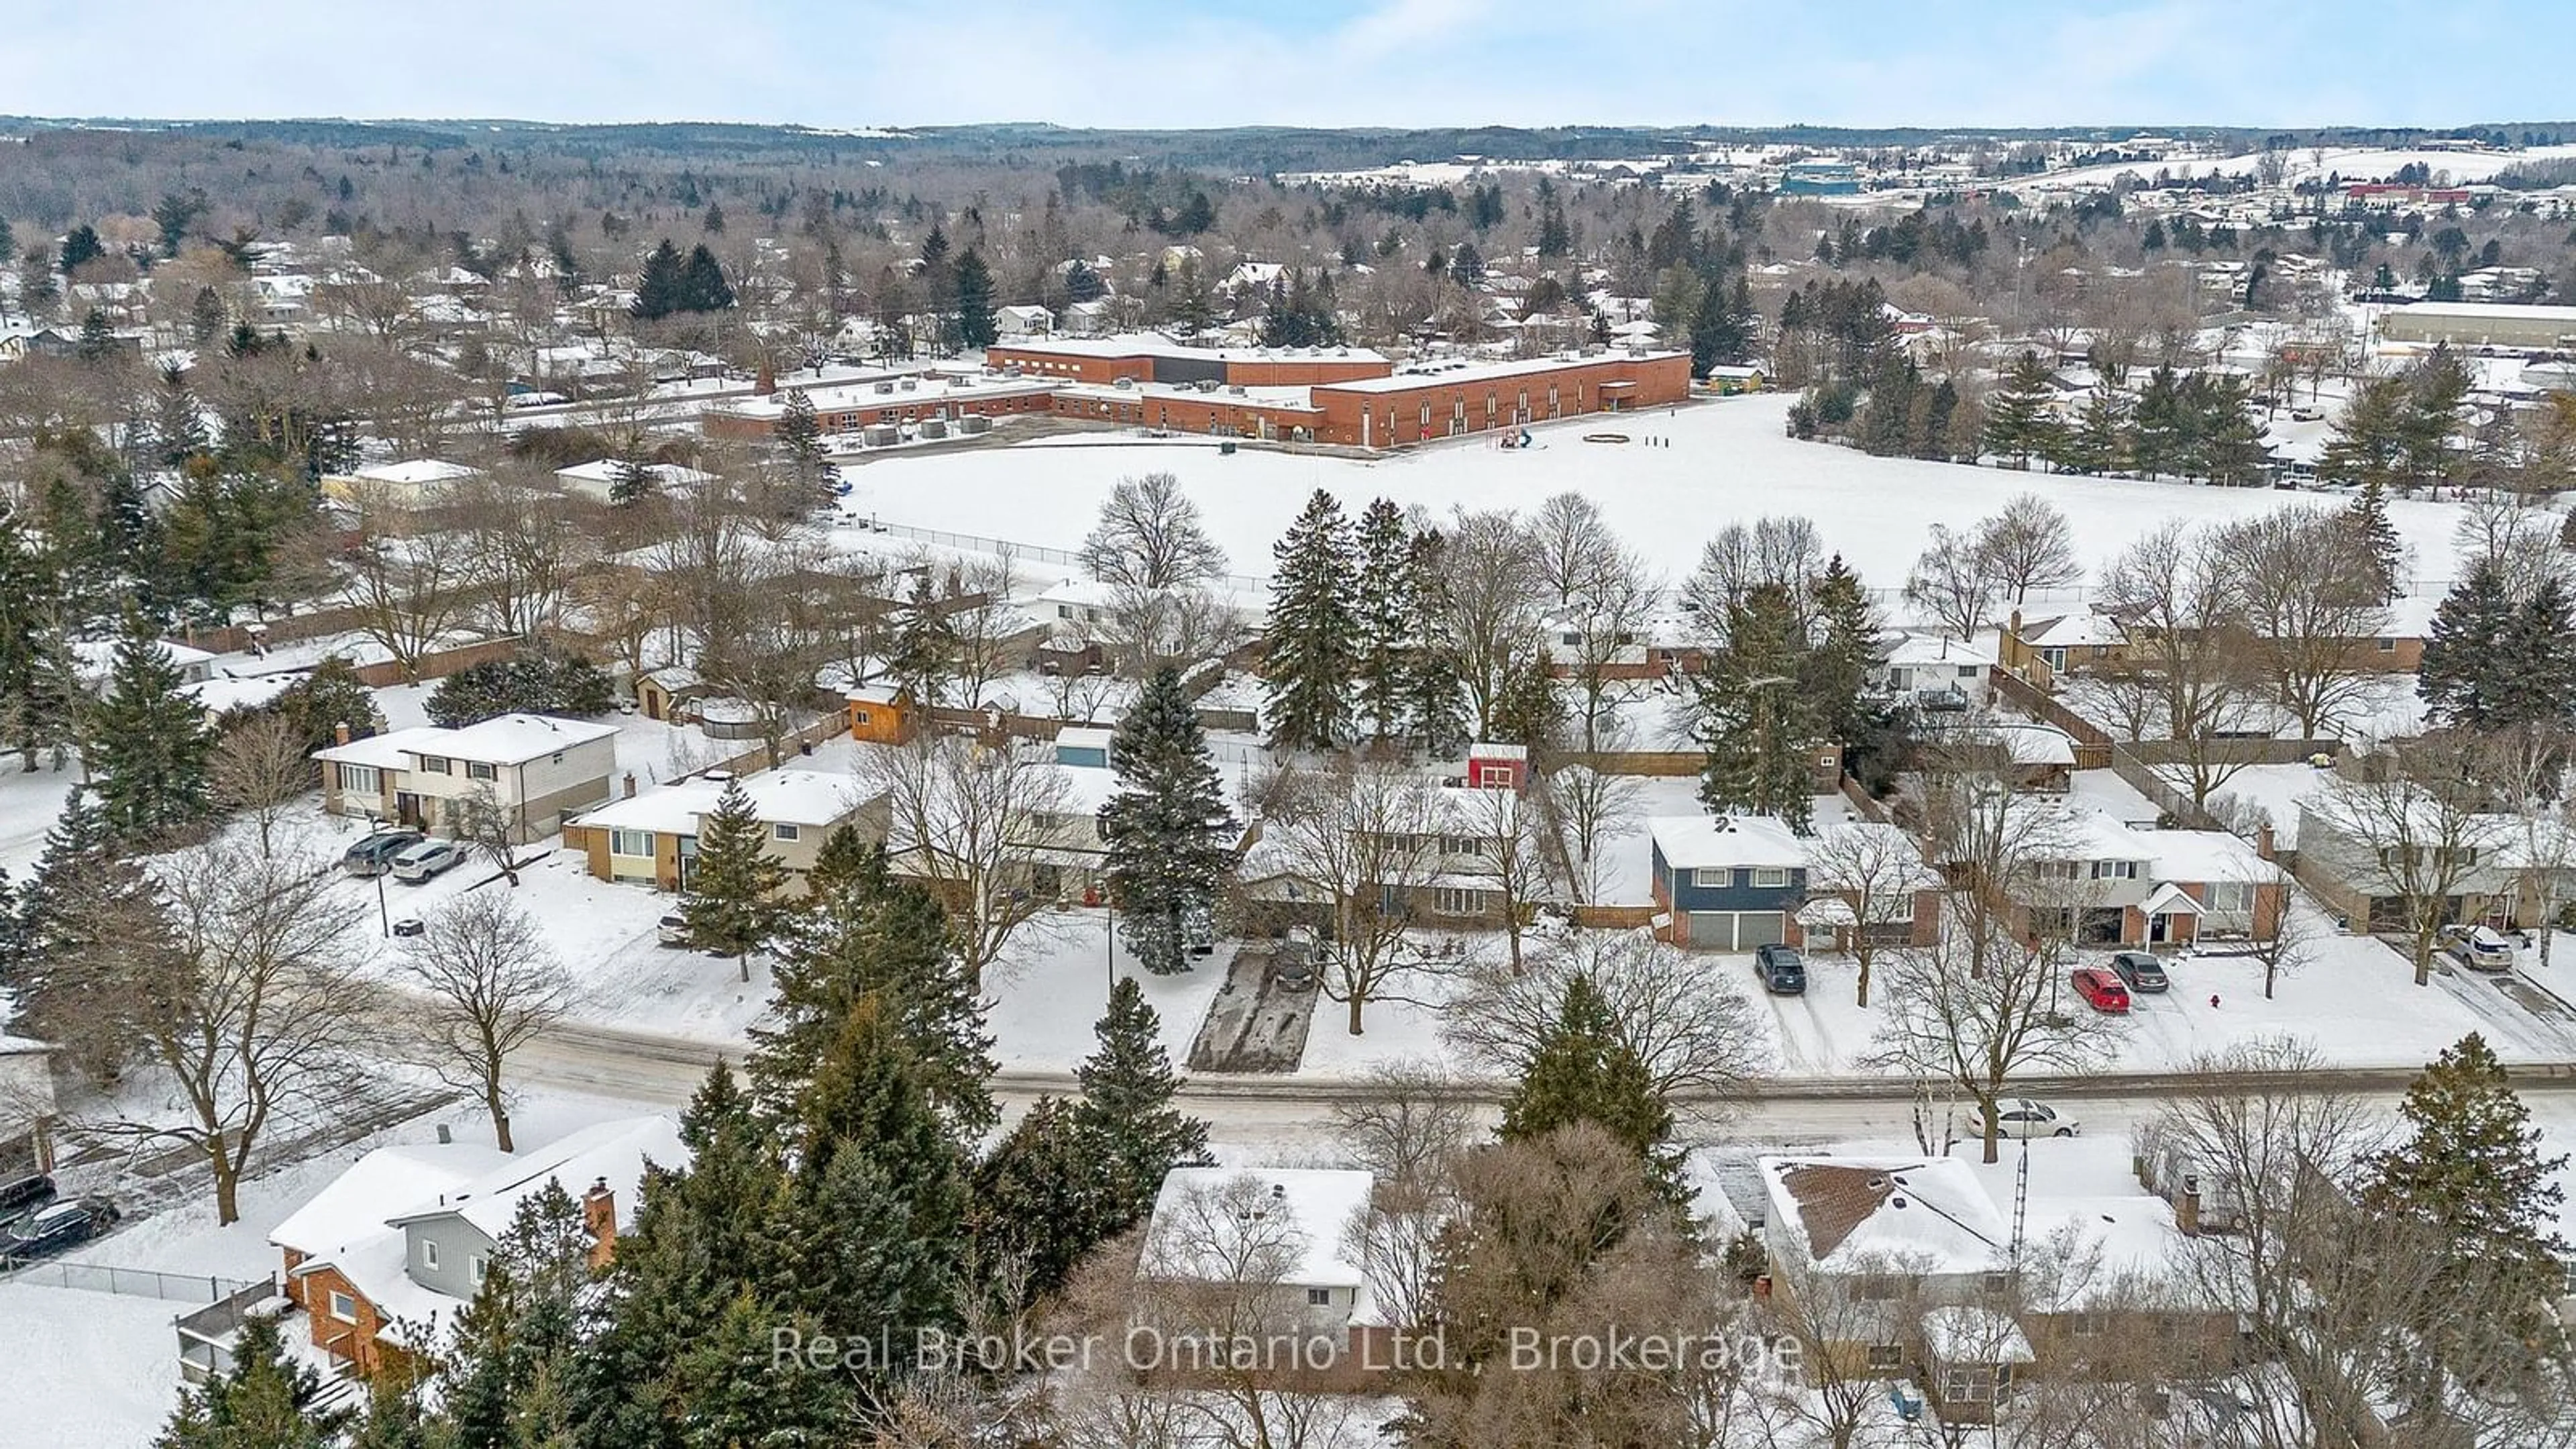
[[[1316,487],[1345,511],[1370,498],[1448,513],[1468,508],[1533,511],[1564,490],[1600,503],[1628,547],[1680,580],[1700,544],[1734,521],[1806,513],[1824,544],[1873,588],[1904,583],[1932,523],[1960,526],[1994,513],[2017,492],[2040,492],[2074,523],[2076,549],[2099,565],[2166,518],[2241,518],[2290,503],[2298,492],[2197,487],[2061,477],[1917,459],[1873,459],[1852,449],[1798,443],[1785,433],[1790,397],[1736,397],[1677,413],[1571,418],[1546,423],[1535,449],[1502,451],[1489,438],[1432,443],[1386,459],[1340,459],[1244,449],[1218,456],[1213,438],[997,446],[899,459],[853,472],[845,505],[889,523],[953,529],[992,539],[1074,547],[1090,534],[1100,500],[1128,474],[1177,472],[1226,549],[1234,572],[1267,575],[1270,544]],[[1631,443],[1584,443],[1584,433],[1625,433]],[[1649,446],[1646,441],[1672,446]],[[2331,500],[2329,500],[2331,503]],[[2416,549],[2424,578],[2450,572],[2458,511],[2439,503],[2388,505],[2398,534]]]

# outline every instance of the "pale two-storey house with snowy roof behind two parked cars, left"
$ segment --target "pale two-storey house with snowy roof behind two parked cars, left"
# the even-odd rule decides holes
[[[616,724],[495,714],[448,730],[420,724],[314,750],[322,807],[332,815],[392,820],[415,830],[464,828],[469,804],[489,802],[513,841],[554,835],[564,815],[608,799]]]

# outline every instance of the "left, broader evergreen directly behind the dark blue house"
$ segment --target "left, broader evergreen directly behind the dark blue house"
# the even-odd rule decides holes
[[[1767,583],[1726,614],[1726,645],[1695,681],[1708,753],[1700,804],[1718,815],[1777,815],[1803,835],[1814,820],[1808,755],[1821,735],[1801,683],[1808,647],[1798,608],[1785,588]]]

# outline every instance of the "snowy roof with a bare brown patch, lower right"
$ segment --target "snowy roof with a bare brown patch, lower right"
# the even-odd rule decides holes
[[[1770,1222],[1832,1274],[1984,1274],[2012,1227],[1955,1158],[1759,1158]]]

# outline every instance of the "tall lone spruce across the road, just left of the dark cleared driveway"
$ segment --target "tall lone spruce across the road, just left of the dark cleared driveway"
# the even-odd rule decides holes
[[[1139,691],[1118,719],[1110,766],[1118,794],[1100,807],[1110,895],[1126,913],[1136,959],[1172,975],[1190,964],[1185,923],[1213,915],[1216,890],[1234,864],[1226,846],[1234,815],[1180,670],[1154,670]]]

